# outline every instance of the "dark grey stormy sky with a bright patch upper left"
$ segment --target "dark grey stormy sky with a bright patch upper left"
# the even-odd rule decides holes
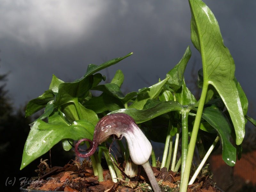
[[[236,77],[255,112],[256,1],[205,0],[220,25],[235,63]],[[246,2],[246,3],[245,3]],[[124,72],[123,89],[155,84],[190,45],[186,80],[200,56],[190,41],[188,1],[0,0],[0,74],[16,107],[45,90],[52,74],[64,81],[84,75],[90,63],[133,55],[101,73]]]

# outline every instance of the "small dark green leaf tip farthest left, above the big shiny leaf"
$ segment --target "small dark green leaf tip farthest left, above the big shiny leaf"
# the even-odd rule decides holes
[[[30,100],[26,108],[26,117],[31,116],[40,109],[45,108],[47,103],[53,99],[54,93],[52,92],[52,90],[47,90],[36,99]]]

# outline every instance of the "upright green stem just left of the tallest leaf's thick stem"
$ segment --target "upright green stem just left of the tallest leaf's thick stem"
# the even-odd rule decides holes
[[[181,141],[181,175],[180,180],[182,182],[182,177],[184,174],[186,159],[188,154],[188,113],[189,110],[181,110],[181,123],[182,123],[182,141]]]

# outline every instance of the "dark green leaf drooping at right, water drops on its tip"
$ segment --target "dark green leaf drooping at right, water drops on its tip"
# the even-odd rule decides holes
[[[213,107],[204,108],[202,117],[214,128],[220,135],[222,143],[222,159],[229,166],[236,163],[236,148],[231,144],[231,125],[228,118],[218,109]]]

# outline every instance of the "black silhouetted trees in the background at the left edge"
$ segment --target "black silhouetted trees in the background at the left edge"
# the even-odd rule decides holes
[[[2,191],[17,192],[21,182],[28,182],[32,176],[37,176],[35,170],[41,158],[48,159],[52,166],[64,166],[74,157],[74,153],[65,152],[59,143],[51,149],[51,156],[48,152],[20,171],[22,152],[30,130],[29,124],[35,117],[25,118],[25,107],[18,110],[13,108],[12,99],[5,89],[6,78],[7,74],[0,75],[1,184]]]

